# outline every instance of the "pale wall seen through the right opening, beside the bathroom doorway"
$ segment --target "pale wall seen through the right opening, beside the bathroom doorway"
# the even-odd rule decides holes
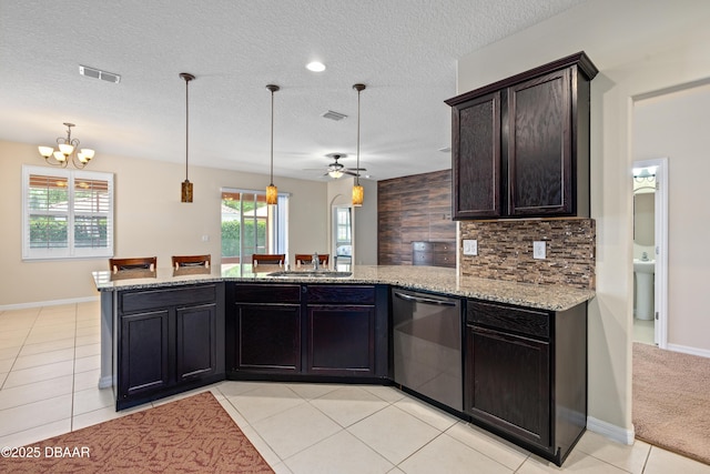
[[[635,102],[633,158],[668,158],[668,346],[710,354],[710,85]]]

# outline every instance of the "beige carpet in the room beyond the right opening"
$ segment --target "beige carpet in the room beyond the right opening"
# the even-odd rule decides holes
[[[633,343],[636,437],[710,464],[710,359]]]

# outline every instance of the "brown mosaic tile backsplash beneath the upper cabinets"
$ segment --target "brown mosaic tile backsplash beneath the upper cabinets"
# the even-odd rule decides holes
[[[460,239],[478,241],[478,255],[459,250],[464,276],[595,290],[594,219],[463,221]],[[545,241],[545,260],[532,259],[535,241]]]

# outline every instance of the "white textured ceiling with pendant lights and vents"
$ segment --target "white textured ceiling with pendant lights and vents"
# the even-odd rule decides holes
[[[457,59],[581,1],[0,0],[0,139],[54,144],[69,121],[97,169],[102,153],[184,163],[190,72],[191,164],[268,173],[274,83],[274,174],[316,180],[327,153],[355,167],[363,82],[367,174],[442,170]]]

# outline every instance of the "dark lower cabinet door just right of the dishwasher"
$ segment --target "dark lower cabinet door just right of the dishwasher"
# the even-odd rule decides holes
[[[466,411],[549,447],[549,344],[471,325],[466,331]]]

